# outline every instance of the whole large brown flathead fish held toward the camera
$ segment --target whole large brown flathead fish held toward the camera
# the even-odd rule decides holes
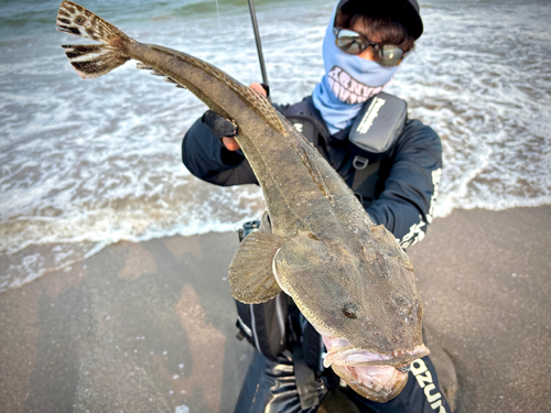
[[[236,252],[231,294],[261,303],[285,292],[322,335],[326,368],[370,400],[386,402],[400,393],[408,366],[429,354],[413,268],[396,238],[370,220],[304,137],[263,96],[208,63],[139,43],[71,1],[61,3],[56,23],[60,31],[102,43],[63,46],[83,78],[133,58],[235,122],[269,219],[264,215],[261,230]]]

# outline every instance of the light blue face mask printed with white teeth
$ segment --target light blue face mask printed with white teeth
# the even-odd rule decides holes
[[[341,51],[333,34],[335,15],[336,8],[323,41],[325,76],[312,94],[332,134],[352,124],[363,104],[380,93],[398,69]]]

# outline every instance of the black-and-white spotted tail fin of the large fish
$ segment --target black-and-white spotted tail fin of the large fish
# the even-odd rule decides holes
[[[62,1],[56,24],[61,32],[104,43],[62,46],[82,78],[99,77],[130,59],[123,46],[132,39],[82,6]]]

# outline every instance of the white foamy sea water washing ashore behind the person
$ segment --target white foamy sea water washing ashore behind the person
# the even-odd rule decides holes
[[[410,118],[442,138],[435,215],[550,204],[550,7],[461,4],[422,7],[425,33],[388,88],[408,101]],[[55,15],[56,6],[37,7]],[[299,101],[323,76],[332,7],[257,4],[274,101]],[[2,15],[11,15],[7,8],[0,6]],[[246,6],[219,8],[222,25],[214,2],[140,3],[136,19],[120,6],[101,6],[101,14],[140,41],[186,51],[244,84],[258,81]],[[112,242],[234,230],[261,215],[258,187],[216,187],[182,165],[182,135],[203,104],[134,63],[82,80],[58,45],[89,41],[50,23],[39,33],[30,22],[0,42],[0,291]]]

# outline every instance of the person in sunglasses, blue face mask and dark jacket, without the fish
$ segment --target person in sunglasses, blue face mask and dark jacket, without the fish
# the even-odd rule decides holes
[[[378,94],[422,31],[415,0],[338,1],[323,43],[325,76],[302,102],[276,106],[354,189],[370,218],[383,224],[403,248],[420,241],[432,220],[442,148],[431,128],[404,119],[404,109],[392,96]],[[268,94],[264,85],[250,87]],[[368,133],[366,123],[371,129]],[[186,133],[184,164],[194,175],[217,185],[257,183],[234,139],[236,133],[233,122],[207,111]],[[312,345],[321,344],[317,333],[304,317],[296,319],[294,330],[299,332],[292,334],[302,335],[302,355],[289,345],[281,355],[268,355],[271,358],[257,355],[236,412],[314,412],[326,389],[335,385],[334,374],[317,359],[325,348]],[[325,343],[326,348],[328,345]],[[294,371],[300,367],[293,358],[304,358],[304,354],[302,365],[315,371],[310,376],[315,383]],[[406,388],[387,403],[363,398],[346,387],[342,390],[363,412],[450,411],[430,359],[414,361],[412,369],[418,374],[422,371],[425,381],[410,372]]]

